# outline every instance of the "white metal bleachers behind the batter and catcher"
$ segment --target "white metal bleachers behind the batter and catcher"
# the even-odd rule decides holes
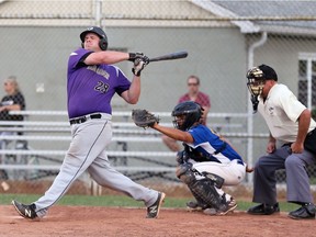
[[[24,121],[0,122],[0,131],[14,132],[13,135],[1,135],[0,139],[8,143],[9,146],[0,150],[2,157],[0,170],[7,170],[11,173],[11,179],[38,180],[54,178],[60,168],[63,158],[67,149],[60,149],[55,143],[61,142],[68,147],[71,140],[70,125],[67,121],[67,112],[64,111],[20,111],[12,114],[22,114]],[[171,121],[170,113],[155,113],[162,121]],[[38,119],[40,117],[40,119]],[[268,134],[247,133],[247,116],[242,113],[210,113],[208,117],[224,120],[224,123],[210,123],[216,126],[216,131],[228,139],[241,140],[237,144],[237,149],[242,145],[245,150],[242,156],[245,161],[252,166],[252,157],[247,156],[249,139],[267,139]],[[236,119],[242,119],[235,123]],[[233,123],[234,122],[234,123]],[[166,126],[172,126],[172,123],[161,123]],[[237,131],[237,132],[234,132]],[[245,132],[242,132],[245,131]],[[22,133],[22,135],[18,135]],[[32,142],[40,144],[50,144],[50,148],[43,149],[41,146],[32,146]],[[131,121],[131,112],[113,113],[113,138],[114,147],[109,148],[108,156],[116,170],[123,172],[135,181],[144,180],[163,180],[163,182],[179,182],[174,176],[176,153],[168,149],[161,150],[160,134],[154,129],[143,129],[137,127]],[[234,144],[235,144],[234,143]],[[233,145],[234,145],[233,144]],[[144,147],[154,145],[150,150]],[[235,144],[236,145],[236,144]],[[162,145],[163,146],[163,145]],[[4,159],[3,159],[4,157]],[[315,167],[308,168],[311,179],[314,179]],[[280,171],[278,181],[282,185],[285,181],[284,171]],[[86,183],[91,184],[93,193],[99,193],[100,188],[86,176]],[[155,182],[155,181],[154,181]],[[158,181],[160,182],[160,181]],[[313,183],[313,180],[312,180]],[[252,185],[252,174],[247,174],[245,185]],[[99,190],[99,191],[95,191]]]

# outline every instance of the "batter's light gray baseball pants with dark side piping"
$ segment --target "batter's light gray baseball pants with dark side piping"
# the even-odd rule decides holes
[[[111,115],[102,114],[100,120],[88,120],[71,126],[72,140],[65,156],[60,171],[52,187],[34,204],[36,214],[44,217],[86,170],[102,187],[125,193],[134,200],[153,205],[158,191],[135,183],[128,177],[111,167],[105,148],[112,139]]]

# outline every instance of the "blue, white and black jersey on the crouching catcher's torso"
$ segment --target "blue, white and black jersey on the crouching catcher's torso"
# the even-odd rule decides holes
[[[188,133],[194,138],[193,144],[187,144],[192,150],[195,161],[215,161],[228,163],[234,159],[242,162],[240,155],[208,127],[199,124],[191,127]],[[190,154],[190,153],[189,153]]]

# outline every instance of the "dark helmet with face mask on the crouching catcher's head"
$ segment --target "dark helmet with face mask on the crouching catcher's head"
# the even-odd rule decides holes
[[[200,122],[203,114],[203,108],[193,101],[185,101],[174,106],[172,116],[185,115],[181,125],[174,119],[173,125],[181,131],[188,131],[194,123]]]

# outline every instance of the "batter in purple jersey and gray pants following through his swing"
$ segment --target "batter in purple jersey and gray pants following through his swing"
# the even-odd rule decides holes
[[[140,71],[149,63],[140,53],[109,52],[108,37],[100,27],[80,34],[82,48],[70,54],[67,75],[68,116],[72,140],[52,187],[30,205],[12,201],[25,218],[44,217],[86,170],[102,187],[121,191],[147,206],[147,218],[158,217],[165,193],[145,188],[117,172],[109,162],[106,146],[112,138],[111,100],[117,93],[135,104],[140,94]],[[111,64],[134,61],[132,82]]]

